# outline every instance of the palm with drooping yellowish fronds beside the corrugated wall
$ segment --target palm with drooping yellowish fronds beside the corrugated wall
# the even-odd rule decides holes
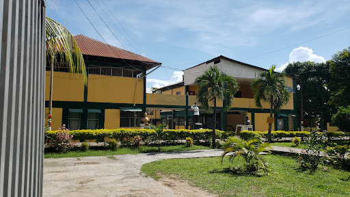
[[[49,119],[52,115],[53,66],[66,64],[70,73],[81,73],[85,85],[87,76],[83,55],[74,37],[63,25],[46,17],[46,60],[51,65]],[[59,59],[59,60],[58,60]],[[50,120],[51,121],[51,120]],[[51,125],[49,127],[51,130]]]

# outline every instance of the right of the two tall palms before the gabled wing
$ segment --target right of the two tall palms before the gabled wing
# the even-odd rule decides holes
[[[257,107],[262,107],[261,100],[270,103],[270,118],[272,118],[273,109],[280,109],[289,101],[289,91],[286,86],[284,73],[276,73],[275,65],[270,70],[259,74],[258,79],[252,82],[254,92],[254,102]],[[271,143],[271,123],[269,123],[269,133],[267,137]]]

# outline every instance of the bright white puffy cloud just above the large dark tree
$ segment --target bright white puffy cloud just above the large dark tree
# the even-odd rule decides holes
[[[325,62],[325,57],[313,54],[314,51],[309,49],[308,47],[299,47],[297,49],[293,49],[293,51],[289,54],[289,62]],[[282,72],[284,68],[288,66],[288,63],[283,64],[282,66],[278,66],[275,68],[276,72]]]

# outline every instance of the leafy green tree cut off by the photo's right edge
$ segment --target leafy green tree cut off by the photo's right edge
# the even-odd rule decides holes
[[[350,47],[334,54],[328,63],[331,80],[327,87],[332,95],[329,103],[347,107],[350,105]]]

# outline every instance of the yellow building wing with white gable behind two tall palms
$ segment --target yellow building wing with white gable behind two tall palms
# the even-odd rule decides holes
[[[217,65],[221,73],[234,77],[239,84],[239,92],[234,96],[234,102],[228,112],[222,110],[225,102],[219,101],[217,103],[216,128],[224,131],[235,131],[237,124],[243,124],[245,116],[247,116],[253,125],[254,131],[267,131],[267,117],[269,117],[270,111],[269,104],[262,103],[262,109],[256,107],[253,99],[254,94],[250,88],[250,83],[258,77],[259,73],[266,69],[238,62],[222,55],[215,57],[213,60],[208,60],[207,62],[183,70],[184,81],[172,86],[159,88],[162,94],[183,95],[187,98],[185,110],[174,109],[172,111],[162,111],[161,116],[164,117],[163,122],[172,125],[172,128],[175,129],[185,127],[185,122],[189,122],[187,126],[191,124],[191,116],[193,116],[191,114],[193,114],[193,110],[191,110],[189,106],[197,102],[197,87],[194,86],[194,80],[196,77],[202,75],[204,70],[207,70],[213,65]],[[290,90],[290,100],[282,109],[274,111],[273,113],[274,121],[272,129],[275,131],[297,131],[297,121],[295,118],[296,99],[294,94],[294,90],[296,90],[295,81],[293,81],[292,77],[286,77],[286,82],[288,90]],[[185,117],[183,114],[185,114]],[[212,128],[213,114],[206,114],[203,109],[200,109],[200,122],[202,122],[204,128]]]

